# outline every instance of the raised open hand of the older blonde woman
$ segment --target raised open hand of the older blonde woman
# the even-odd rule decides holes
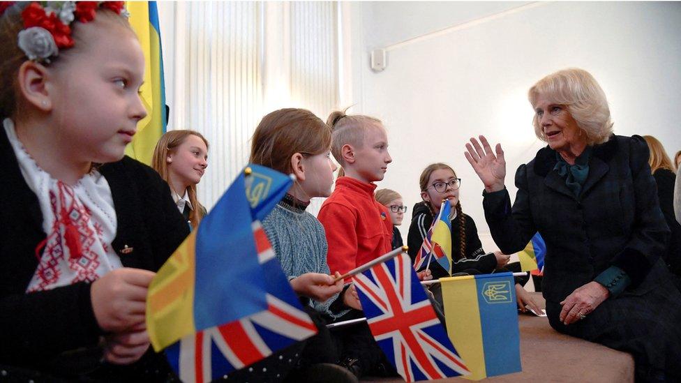
[[[466,144],[463,154],[484,183],[488,193],[502,190],[504,188],[504,178],[506,177],[506,160],[501,144],[497,144],[496,153],[492,151],[485,136],[481,135],[480,143],[474,138],[470,139],[470,144]],[[482,146],[480,146],[482,144]]]

